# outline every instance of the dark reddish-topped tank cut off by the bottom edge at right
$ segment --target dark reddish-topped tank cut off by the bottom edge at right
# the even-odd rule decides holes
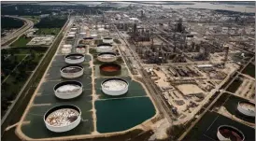
[[[237,128],[230,125],[220,125],[217,132],[217,137],[220,141],[244,141],[245,135]]]

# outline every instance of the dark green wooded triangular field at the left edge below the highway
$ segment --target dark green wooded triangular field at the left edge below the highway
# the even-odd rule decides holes
[[[1,102],[3,111],[7,110],[9,102],[13,101],[21,91],[46,50],[45,48],[2,49]]]

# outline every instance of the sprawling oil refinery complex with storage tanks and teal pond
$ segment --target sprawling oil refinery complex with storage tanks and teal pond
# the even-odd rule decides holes
[[[81,11],[70,10],[20,138],[254,138],[255,16],[146,4]]]

